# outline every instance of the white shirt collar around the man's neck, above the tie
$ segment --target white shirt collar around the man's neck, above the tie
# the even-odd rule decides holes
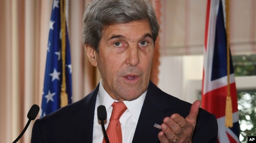
[[[141,113],[141,108],[144,103],[144,99],[146,97],[146,92],[147,90],[139,98],[135,100],[123,101],[123,103],[126,105],[131,115],[137,120]],[[102,86],[102,80],[100,80],[99,82],[98,98],[99,98],[99,105],[104,105],[107,111],[109,110],[113,102],[118,102],[117,100],[112,99],[110,95],[106,92],[106,90],[104,90]]]

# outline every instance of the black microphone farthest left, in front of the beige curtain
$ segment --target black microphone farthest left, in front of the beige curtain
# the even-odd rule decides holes
[[[18,138],[16,138],[16,140],[13,141],[13,143],[17,143],[17,141],[22,137],[22,135],[25,133],[26,129],[29,127],[29,124],[31,122],[31,120],[34,120],[37,117],[37,114],[39,112],[39,106],[34,104],[31,106],[29,113],[27,115],[27,117],[29,118],[25,128],[22,130],[21,134],[18,136]]]

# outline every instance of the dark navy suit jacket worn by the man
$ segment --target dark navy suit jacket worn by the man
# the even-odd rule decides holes
[[[31,143],[92,143],[94,109],[99,85],[85,98],[67,105],[35,121]],[[160,129],[165,117],[179,113],[184,118],[191,104],[157,88],[151,81],[133,137],[133,143],[159,143]],[[102,130],[99,130],[102,132]],[[218,126],[213,114],[199,110],[193,143],[217,143]]]

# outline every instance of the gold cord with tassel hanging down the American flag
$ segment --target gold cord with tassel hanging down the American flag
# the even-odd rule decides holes
[[[66,45],[66,19],[65,19],[65,0],[60,0],[60,18],[61,18],[61,57],[62,57],[62,87],[60,93],[60,107],[68,105],[68,94],[66,93],[66,77],[65,77],[65,45]]]

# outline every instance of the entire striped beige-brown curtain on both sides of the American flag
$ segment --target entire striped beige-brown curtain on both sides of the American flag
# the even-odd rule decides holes
[[[41,106],[52,1],[0,0],[0,143],[13,142],[28,121],[31,105]],[[81,45],[81,19],[89,1],[68,1],[73,101],[99,82]],[[19,143],[30,142],[33,123]]]

